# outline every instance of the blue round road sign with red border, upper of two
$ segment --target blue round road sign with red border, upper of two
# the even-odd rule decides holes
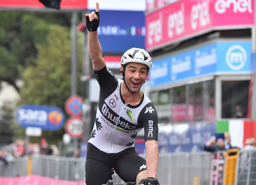
[[[71,96],[65,102],[65,111],[69,116],[81,116],[83,98],[81,96]]]

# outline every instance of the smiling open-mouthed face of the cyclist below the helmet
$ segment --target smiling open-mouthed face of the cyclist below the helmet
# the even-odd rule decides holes
[[[123,71],[123,66],[121,66]],[[125,82],[131,92],[140,91],[141,86],[144,84],[147,75],[148,68],[146,65],[141,63],[131,62],[125,66]]]

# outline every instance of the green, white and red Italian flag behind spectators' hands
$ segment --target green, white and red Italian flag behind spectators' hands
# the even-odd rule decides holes
[[[228,132],[231,145],[244,149],[248,137],[255,137],[255,122],[247,120],[229,120],[217,122],[216,134]]]

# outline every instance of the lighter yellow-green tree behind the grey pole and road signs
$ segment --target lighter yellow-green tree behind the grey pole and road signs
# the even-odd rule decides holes
[[[46,43],[37,44],[38,58],[34,64],[21,69],[24,89],[19,104],[57,106],[64,110],[64,103],[70,96],[71,86],[71,33],[63,26],[51,25],[45,38]],[[78,87],[81,76],[81,35],[78,36]],[[78,88],[78,94],[81,89]],[[66,115],[67,118],[67,115]],[[24,130],[24,129],[23,129]],[[64,128],[51,132],[43,131],[48,142],[57,144],[62,140]],[[24,133],[24,131],[23,131]],[[31,142],[38,142],[31,137]]]

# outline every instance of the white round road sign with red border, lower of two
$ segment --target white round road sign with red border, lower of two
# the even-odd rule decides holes
[[[81,137],[83,135],[83,120],[77,116],[68,118],[65,130],[71,137]]]

